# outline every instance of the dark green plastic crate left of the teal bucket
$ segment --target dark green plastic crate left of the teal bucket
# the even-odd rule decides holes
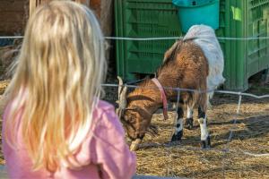
[[[116,2],[116,32],[118,37],[150,38],[178,37],[177,9],[171,1]],[[155,72],[163,53],[175,40],[122,41],[117,40],[117,73],[126,80],[134,74]],[[137,76],[136,76],[137,77]]]

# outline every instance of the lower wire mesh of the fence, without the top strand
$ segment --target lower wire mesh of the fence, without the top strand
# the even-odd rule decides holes
[[[134,81],[134,82],[130,82],[132,83],[132,85],[130,84],[125,84],[125,85],[122,85],[121,87],[123,86],[126,86],[127,88],[130,88],[130,89],[137,89],[137,88],[147,88],[147,89],[155,89],[156,91],[159,91],[159,89],[157,87],[141,87],[139,85],[134,85],[134,83],[136,82],[141,82],[140,81]],[[117,88],[119,87],[119,85],[117,84],[103,84],[102,85],[103,87],[106,87],[106,88]],[[269,153],[265,152],[265,153],[253,153],[251,151],[247,151],[247,150],[244,150],[244,149],[230,149],[230,142],[232,141],[233,137],[234,137],[234,132],[236,131],[237,129],[237,122],[238,122],[238,118],[239,118],[239,115],[240,115],[240,109],[242,107],[242,98],[255,98],[255,99],[265,99],[265,98],[269,98],[269,94],[268,95],[261,95],[261,96],[258,96],[258,95],[255,95],[255,94],[250,94],[250,93],[246,93],[246,92],[236,92],[236,91],[229,91],[229,90],[190,90],[190,89],[180,89],[180,88],[170,88],[170,87],[163,87],[163,89],[165,90],[175,90],[177,92],[177,103],[176,103],[176,111],[174,111],[175,114],[177,114],[177,108],[178,108],[178,105],[179,105],[179,98],[180,98],[180,92],[183,92],[183,91],[188,91],[188,92],[195,92],[195,93],[208,93],[208,92],[214,92],[214,93],[219,93],[219,94],[228,94],[228,95],[233,95],[233,96],[237,96],[238,97],[238,102],[237,102],[237,107],[236,107],[236,113],[233,117],[233,121],[232,121],[232,126],[230,127],[229,129],[229,135],[228,135],[228,138],[226,140],[226,145],[224,145],[223,149],[214,149],[214,148],[210,148],[210,149],[201,149],[199,147],[190,147],[190,146],[184,146],[184,145],[181,145],[181,144],[178,144],[178,143],[175,143],[175,142],[165,142],[165,143],[143,143],[141,144],[141,147],[142,148],[149,148],[149,147],[155,147],[155,148],[165,148],[166,149],[166,153],[167,153],[167,157],[169,158],[169,164],[171,164],[173,158],[173,152],[170,150],[171,147],[177,147],[177,149],[187,149],[187,150],[191,150],[191,151],[199,151],[199,152],[211,152],[211,151],[214,151],[214,152],[219,152],[223,155],[223,158],[222,158],[222,177],[225,178],[225,168],[227,167],[227,164],[228,162],[226,162],[227,158],[228,158],[228,155],[230,153],[233,153],[233,154],[236,154],[238,156],[248,156],[248,157],[252,157],[252,158],[267,158],[269,157]],[[175,119],[174,119],[174,126],[176,124],[176,121],[177,121],[177,115],[175,115]],[[171,133],[173,133],[174,131],[171,129]],[[171,136],[171,135],[170,135]],[[264,146],[261,147],[260,151],[262,150],[268,150],[269,149],[269,146],[268,148],[266,149]],[[172,173],[170,171],[173,170],[173,166],[170,166],[168,165],[168,168],[167,168],[167,175],[168,176],[176,176],[176,175],[171,175]]]

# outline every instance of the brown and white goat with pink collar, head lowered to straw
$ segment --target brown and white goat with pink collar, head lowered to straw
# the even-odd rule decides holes
[[[215,38],[213,30],[207,26],[195,26],[191,30],[190,32],[193,34],[190,37],[198,37],[197,33],[202,30],[202,35],[209,31]],[[215,41],[218,43],[216,38]],[[217,48],[216,54],[222,53],[219,44]],[[206,50],[195,43],[195,38],[178,40],[165,53],[163,64],[156,72],[155,78],[161,83],[162,87],[200,91],[214,90],[224,81],[222,77],[223,56],[222,54],[219,55],[220,59],[218,59],[217,55],[216,59],[213,60],[208,60],[208,57],[210,55],[206,54]],[[152,115],[163,107],[163,97],[160,88],[157,88],[158,85],[152,79],[141,82],[126,97],[126,87],[123,87],[121,79],[119,80],[119,110],[117,113],[126,128],[128,137],[133,141],[131,149],[136,150],[146,132],[157,132],[156,128],[151,125],[151,120]],[[163,88],[163,90],[170,102],[177,101],[178,92],[176,90],[166,88]],[[210,95],[213,94],[199,91],[180,91],[176,130],[171,141],[180,141],[183,135],[184,108],[187,107],[187,125],[188,128],[191,128],[193,125],[193,108],[198,107],[202,148],[210,147],[210,135],[206,125],[206,109]]]

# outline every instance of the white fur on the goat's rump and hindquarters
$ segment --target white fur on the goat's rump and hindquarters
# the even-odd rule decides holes
[[[223,54],[214,30],[206,25],[194,25],[183,38],[183,40],[187,39],[192,39],[197,46],[201,47],[209,64],[207,90],[217,89],[225,79],[222,76],[224,67]],[[213,92],[209,93],[209,98],[213,98]]]

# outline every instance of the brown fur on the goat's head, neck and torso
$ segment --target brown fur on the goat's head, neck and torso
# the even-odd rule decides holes
[[[162,87],[206,90],[206,77],[209,67],[204,53],[192,41],[178,41],[164,55],[163,64],[156,78]],[[176,90],[165,90],[169,101],[177,100]],[[199,106],[206,111],[206,94],[180,92],[184,105]],[[143,81],[127,96],[124,113],[126,131],[131,139],[142,139],[151,128],[152,115],[162,107],[161,92],[151,80]]]

